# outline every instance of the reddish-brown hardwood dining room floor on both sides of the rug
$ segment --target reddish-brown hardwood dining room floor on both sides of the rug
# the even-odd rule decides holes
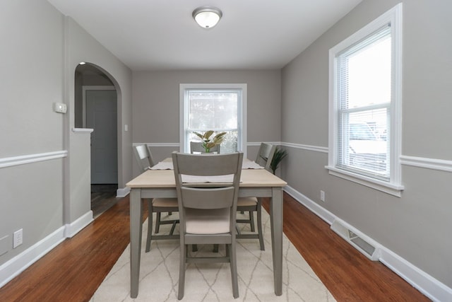
[[[264,207],[268,210],[268,200]],[[352,248],[288,194],[283,227],[337,301],[429,301],[380,262]],[[88,301],[128,244],[125,197],[1,288],[0,301]]]

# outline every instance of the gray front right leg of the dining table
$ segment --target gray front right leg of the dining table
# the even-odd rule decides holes
[[[283,189],[273,187],[270,201],[271,249],[275,294],[283,294]]]

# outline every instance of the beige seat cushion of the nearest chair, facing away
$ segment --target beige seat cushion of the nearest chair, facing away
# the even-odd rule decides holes
[[[191,234],[230,233],[230,209],[186,209],[185,231]]]

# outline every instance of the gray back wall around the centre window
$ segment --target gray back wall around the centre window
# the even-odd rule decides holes
[[[156,161],[179,150],[179,84],[246,83],[247,140],[280,141],[280,70],[133,72],[133,143],[152,146]],[[172,146],[165,146],[172,145]],[[249,158],[258,147],[248,148]],[[138,173],[134,164],[133,172]]]

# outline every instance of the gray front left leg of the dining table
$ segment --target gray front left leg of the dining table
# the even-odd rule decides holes
[[[141,190],[132,189],[130,194],[130,296],[138,296],[141,259]]]

